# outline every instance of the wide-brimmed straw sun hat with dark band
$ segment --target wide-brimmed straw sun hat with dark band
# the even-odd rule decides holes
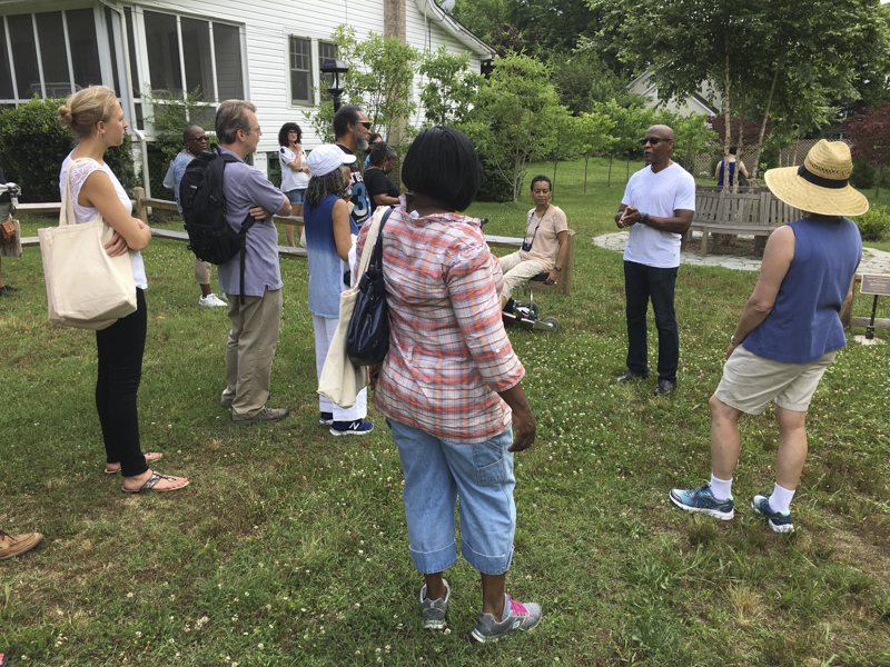
[[[795,208],[823,216],[861,216],[869,200],[850,185],[853,160],[843,141],[822,139],[810,149],[800,167],[767,172],[767,187]]]

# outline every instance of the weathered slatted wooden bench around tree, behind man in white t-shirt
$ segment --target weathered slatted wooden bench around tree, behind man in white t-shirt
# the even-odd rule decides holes
[[[695,213],[683,245],[692,238],[693,230],[700,231],[702,245],[699,253],[704,257],[712,233],[750,235],[756,237],[754,249],[762,255],[767,237],[800,217],[799,209],[777,199],[765,188],[748,188],[746,192],[733,193],[713,186],[698,186]]]

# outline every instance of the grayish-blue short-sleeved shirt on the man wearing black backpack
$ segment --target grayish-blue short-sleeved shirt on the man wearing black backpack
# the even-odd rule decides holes
[[[230,150],[220,150],[236,156]],[[238,162],[226,165],[224,176],[226,188],[226,218],[235,231],[240,231],[247,211],[261,206],[277,213],[286,201],[280,190],[269,182],[264,173],[238,158]],[[227,295],[240,293],[241,256],[236,255],[219,265],[219,289]],[[247,257],[244,269],[244,293],[261,297],[266,290],[281,289],[281,268],[278,265],[278,230],[271,218],[257,220],[247,231]]]

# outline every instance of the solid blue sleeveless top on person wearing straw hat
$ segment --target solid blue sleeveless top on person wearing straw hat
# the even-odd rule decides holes
[[[760,357],[809,364],[847,345],[839,317],[862,256],[859,229],[849,218],[791,222],[794,258],[767,319],[744,339]]]

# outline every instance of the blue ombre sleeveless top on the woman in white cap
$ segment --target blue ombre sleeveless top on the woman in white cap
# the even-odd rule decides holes
[[[318,206],[303,207],[303,223],[306,230],[306,253],[309,258],[309,311],[318,317],[337,319],[340,316],[340,292],[348,287],[343,275],[349,269],[337,255],[334,241],[334,203],[338,197],[328,195]],[[352,233],[358,235],[352,217]]]

